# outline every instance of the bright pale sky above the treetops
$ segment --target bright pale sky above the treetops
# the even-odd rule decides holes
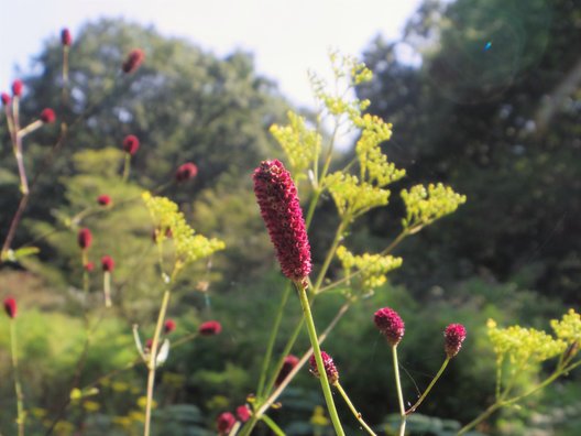
[[[327,69],[328,48],[359,55],[381,33],[397,40],[420,0],[0,0],[0,90],[26,68],[46,37],[100,17],[153,24],[218,55],[254,53],[260,73],[294,102],[310,106],[306,72]]]

